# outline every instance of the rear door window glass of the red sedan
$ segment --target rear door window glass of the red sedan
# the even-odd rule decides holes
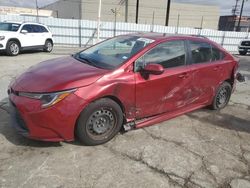
[[[192,60],[194,64],[207,63],[212,60],[211,45],[206,42],[189,41]]]

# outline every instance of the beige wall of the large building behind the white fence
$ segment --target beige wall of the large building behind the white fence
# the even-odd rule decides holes
[[[81,1],[81,3],[80,3]],[[102,21],[114,21],[111,9],[117,9],[117,21],[125,21],[125,5],[120,0],[102,1]],[[166,0],[140,1],[138,22],[141,24],[165,25]],[[45,7],[58,12],[59,18],[79,18],[82,10],[82,19],[96,20],[99,0],[58,1]],[[81,8],[79,5],[81,4]],[[65,11],[67,10],[67,11]],[[153,21],[154,13],[154,21]],[[136,0],[128,0],[128,22],[134,23],[136,15]],[[203,28],[217,29],[219,21],[219,7],[209,5],[194,5],[171,3],[169,25],[176,26],[179,16],[179,26],[199,28],[203,16]]]

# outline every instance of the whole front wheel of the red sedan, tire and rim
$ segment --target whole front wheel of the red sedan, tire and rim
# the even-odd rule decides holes
[[[77,121],[76,135],[84,145],[99,145],[111,140],[121,129],[123,113],[113,100],[103,98],[90,103]]]

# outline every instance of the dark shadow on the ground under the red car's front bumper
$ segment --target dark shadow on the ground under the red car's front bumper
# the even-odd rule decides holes
[[[38,148],[61,146],[60,142],[36,141],[19,135],[11,125],[8,98],[0,101],[0,135],[3,135],[10,143],[17,146],[31,146]]]

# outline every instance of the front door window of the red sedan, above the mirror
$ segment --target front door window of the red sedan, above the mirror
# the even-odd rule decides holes
[[[140,57],[135,64],[137,71],[148,63],[157,63],[164,68],[178,67],[186,63],[185,42],[183,40],[164,42]]]

